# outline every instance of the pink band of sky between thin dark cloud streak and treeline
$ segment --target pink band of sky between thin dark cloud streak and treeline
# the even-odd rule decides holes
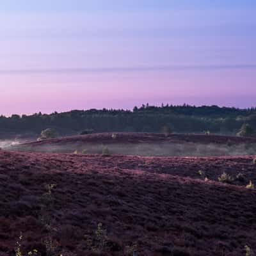
[[[254,70],[4,75],[4,114],[133,108],[142,103],[255,106]],[[16,81],[19,85],[16,85]],[[241,85],[242,84],[242,85]],[[246,90],[243,90],[246,84]],[[195,86],[196,85],[196,86]]]

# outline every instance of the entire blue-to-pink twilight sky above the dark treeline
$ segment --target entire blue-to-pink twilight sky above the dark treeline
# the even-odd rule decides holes
[[[255,0],[1,0],[0,115],[256,106]]]

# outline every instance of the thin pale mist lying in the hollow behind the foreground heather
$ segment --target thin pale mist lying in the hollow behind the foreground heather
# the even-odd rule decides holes
[[[19,141],[1,142],[2,148],[15,151],[122,154],[132,156],[244,156],[256,154],[256,144],[201,144],[201,143],[49,143],[19,144]],[[5,147],[4,147],[5,145]]]

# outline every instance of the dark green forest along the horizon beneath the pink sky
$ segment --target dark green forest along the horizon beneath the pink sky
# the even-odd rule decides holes
[[[0,116],[0,134],[39,134],[47,128],[60,135],[92,132],[170,132],[236,134],[243,124],[256,128],[256,108],[219,106],[149,106],[132,110],[89,109],[64,113]]]

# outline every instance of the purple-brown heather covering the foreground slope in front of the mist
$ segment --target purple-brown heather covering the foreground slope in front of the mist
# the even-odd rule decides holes
[[[224,172],[230,184],[219,181]],[[17,241],[22,255],[246,255],[244,246],[256,250],[250,180],[253,156],[1,150],[0,255],[15,255]]]

